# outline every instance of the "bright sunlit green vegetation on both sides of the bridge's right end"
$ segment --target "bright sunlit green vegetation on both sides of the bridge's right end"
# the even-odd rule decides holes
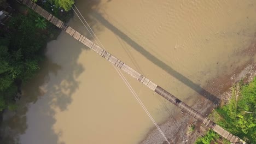
[[[256,143],[256,77],[248,84],[243,81],[232,88],[229,104],[218,107],[212,112],[214,121],[248,143]],[[196,143],[210,143],[217,134],[208,133]]]

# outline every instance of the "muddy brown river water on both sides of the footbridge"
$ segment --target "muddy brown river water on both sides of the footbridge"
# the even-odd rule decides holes
[[[106,49],[189,105],[255,56],[255,1],[77,1]],[[69,22],[88,35],[77,16]],[[5,130],[21,143],[138,143],[154,124],[107,61],[61,33]],[[125,75],[159,124],[180,112]],[[22,103],[30,102],[29,106]]]

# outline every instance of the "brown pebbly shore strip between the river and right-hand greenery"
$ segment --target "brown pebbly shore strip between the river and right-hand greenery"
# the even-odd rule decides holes
[[[253,80],[256,76],[256,64],[255,64],[255,41],[251,43],[248,49],[239,53],[239,55],[248,55],[251,57],[249,61],[240,68],[236,68],[231,74],[217,77],[208,82],[206,90],[216,95],[221,102],[219,105],[227,103],[230,99],[230,88],[234,83],[244,79],[245,82]],[[200,98],[196,103],[191,106],[196,111],[200,111],[202,115],[209,116],[213,109],[218,105],[214,105],[211,101],[205,98]],[[197,122],[194,118],[191,118],[187,113],[180,112],[176,116],[170,116],[170,118],[162,123],[160,126],[164,131],[168,140],[171,143],[194,143],[197,137],[205,135],[208,128],[202,125],[201,122]],[[157,129],[153,129],[147,135],[141,143],[166,143],[161,141],[161,135]]]

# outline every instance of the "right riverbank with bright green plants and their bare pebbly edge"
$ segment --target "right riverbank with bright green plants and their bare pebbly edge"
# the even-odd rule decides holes
[[[211,112],[209,118],[247,143],[255,143],[256,73],[250,67],[246,71],[249,73],[222,94],[223,103]],[[208,132],[202,133],[196,143],[229,143],[204,125],[202,129]]]

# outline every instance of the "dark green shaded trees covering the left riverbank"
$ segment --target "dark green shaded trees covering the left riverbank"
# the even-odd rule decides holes
[[[5,0],[0,0],[0,7],[4,3]],[[48,2],[44,4],[43,7],[53,7]],[[39,62],[43,60],[46,43],[60,32],[25,6],[16,2],[11,6],[16,13],[0,28],[0,111],[15,109],[21,83],[36,73]],[[61,19],[67,19],[69,13],[59,9],[51,12],[56,11],[59,11],[57,16]]]

